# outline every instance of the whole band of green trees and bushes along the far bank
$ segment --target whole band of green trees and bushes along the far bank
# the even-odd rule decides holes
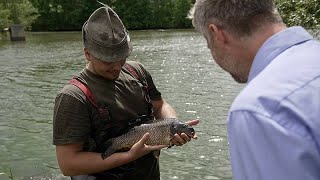
[[[128,29],[192,28],[186,18],[195,0],[100,0],[111,6]],[[320,28],[319,0],[275,0],[288,26]],[[96,0],[0,0],[0,33],[12,24],[33,31],[81,30]]]

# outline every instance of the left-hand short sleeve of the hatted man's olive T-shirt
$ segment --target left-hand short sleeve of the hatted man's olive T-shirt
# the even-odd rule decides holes
[[[89,111],[80,95],[58,94],[53,115],[53,144],[85,142],[90,128]]]

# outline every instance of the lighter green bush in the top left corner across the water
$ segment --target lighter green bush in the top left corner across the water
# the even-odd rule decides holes
[[[0,0],[0,29],[11,24],[21,24],[31,29],[32,22],[38,17],[37,9],[28,0]]]

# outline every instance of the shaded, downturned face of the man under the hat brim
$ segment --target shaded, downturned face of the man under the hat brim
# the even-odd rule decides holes
[[[105,79],[116,80],[121,72],[121,68],[126,62],[126,59],[116,62],[106,62],[93,57],[90,52],[85,50],[87,60],[89,61],[88,69]]]

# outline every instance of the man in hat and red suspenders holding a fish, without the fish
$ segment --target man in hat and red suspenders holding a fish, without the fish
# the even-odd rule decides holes
[[[110,7],[93,12],[82,32],[88,64],[57,95],[54,108],[53,144],[62,173],[75,180],[159,180],[154,152],[169,144],[147,145],[153,131],[146,131],[128,151],[108,154],[106,159],[102,153],[107,140],[147,121],[175,118],[174,109],[162,99],[143,65],[126,62],[132,45]],[[181,146],[192,135],[173,134],[170,143]]]

